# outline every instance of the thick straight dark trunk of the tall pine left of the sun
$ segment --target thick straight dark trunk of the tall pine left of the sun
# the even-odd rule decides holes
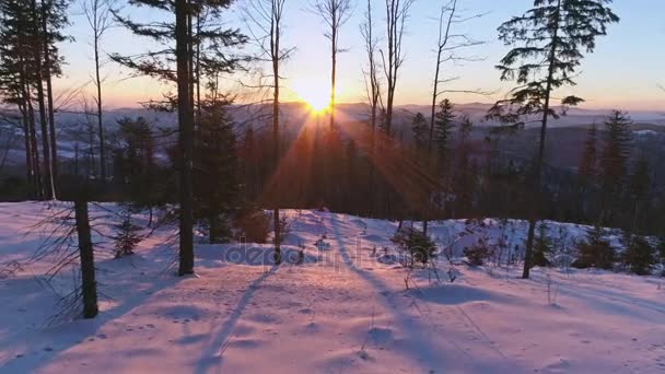
[[[175,37],[178,77],[178,130],[180,152],[180,188],[179,188],[179,269],[178,274],[194,273],[194,199],[191,183],[191,163],[194,153],[194,113],[190,103],[189,72],[189,35],[187,19],[189,9],[187,0],[175,0]]]

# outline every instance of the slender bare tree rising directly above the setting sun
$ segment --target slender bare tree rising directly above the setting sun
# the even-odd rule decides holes
[[[324,36],[330,40],[330,129],[335,126],[335,95],[337,78],[337,54],[339,49],[339,31],[351,16],[351,0],[315,0],[312,8],[328,28]]]

